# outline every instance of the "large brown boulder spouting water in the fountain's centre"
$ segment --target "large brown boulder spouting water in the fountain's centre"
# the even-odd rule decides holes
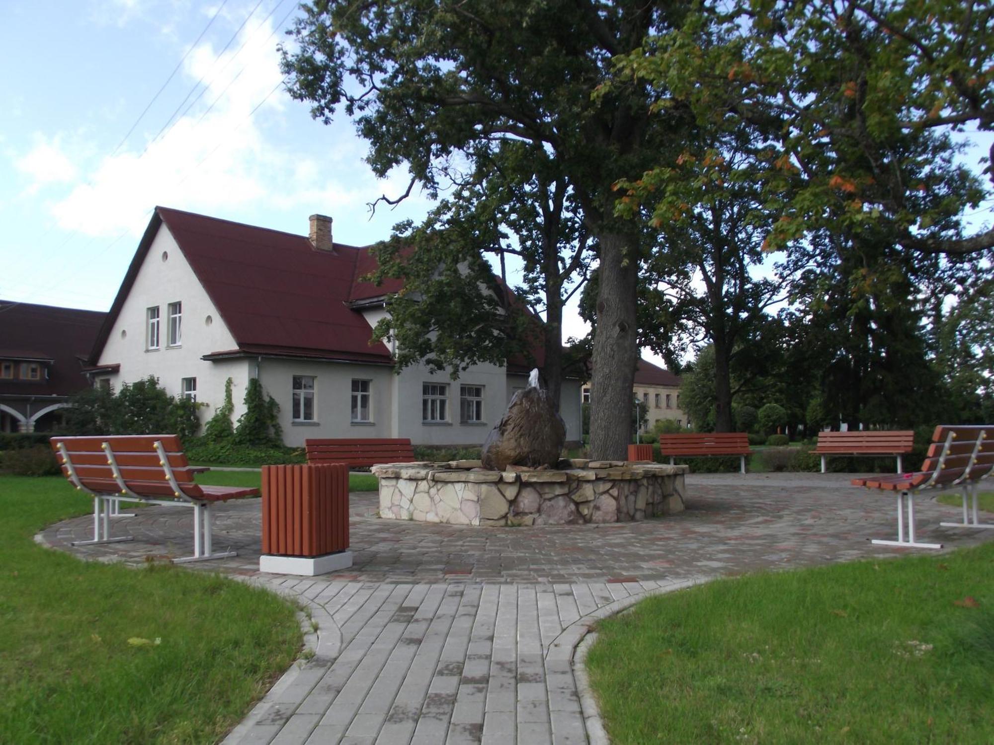
[[[556,468],[566,442],[566,424],[539,386],[533,370],[528,387],[514,394],[507,411],[483,443],[483,468]]]

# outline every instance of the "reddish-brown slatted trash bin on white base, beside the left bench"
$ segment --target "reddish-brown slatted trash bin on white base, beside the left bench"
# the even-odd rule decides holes
[[[314,576],[350,566],[349,467],[262,466],[259,570]]]

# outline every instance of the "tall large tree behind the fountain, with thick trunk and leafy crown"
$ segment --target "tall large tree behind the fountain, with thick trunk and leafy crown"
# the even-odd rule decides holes
[[[623,458],[638,358],[636,284],[643,232],[614,214],[615,183],[682,138],[684,113],[654,113],[641,81],[593,95],[612,59],[683,24],[690,3],[658,0],[314,2],[284,52],[291,93],[325,122],[341,107],[370,143],[378,175],[412,174],[409,193],[459,183],[478,148],[541,147],[568,179],[597,246],[590,449]]]

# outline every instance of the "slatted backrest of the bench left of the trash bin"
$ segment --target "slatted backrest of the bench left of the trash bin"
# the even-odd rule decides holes
[[[162,443],[166,462],[183,495],[194,500],[204,496],[203,490],[194,482],[194,472],[177,435],[53,437],[50,442],[66,478],[74,481],[75,475],[80,484],[92,492],[121,493],[114,473],[113,464],[116,464],[120,478],[135,495],[149,499],[183,499],[169,483],[162,465],[155,446],[156,442]]]

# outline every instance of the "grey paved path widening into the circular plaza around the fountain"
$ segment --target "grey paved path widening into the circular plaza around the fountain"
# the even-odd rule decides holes
[[[845,475],[700,475],[687,511],[612,525],[489,528],[381,521],[353,495],[355,565],[317,578],[258,572],[255,501],[218,512],[199,564],[300,599],[315,656],[277,682],[226,743],[585,743],[601,738],[581,705],[574,651],[590,625],[650,593],[755,569],[894,556],[894,499]],[[939,527],[958,509],[920,501],[922,539],[949,548],[994,535]],[[191,510],[152,507],[114,522],[135,540],[71,547],[91,521],[42,538],[88,558],[140,563],[186,555]],[[126,524],[126,527],[125,527]]]

